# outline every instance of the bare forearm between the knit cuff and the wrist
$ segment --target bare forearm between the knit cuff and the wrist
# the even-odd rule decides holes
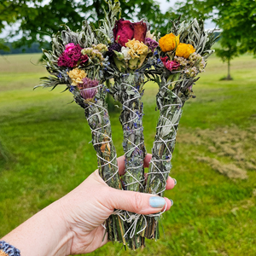
[[[0,240],[18,248],[21,256],[68,255],[72,233],[60,209],[61,201],[55,201]]]

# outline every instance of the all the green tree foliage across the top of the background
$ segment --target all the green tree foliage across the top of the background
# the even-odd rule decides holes
[[[115,1],[115,0],[112,0]],[[9,49],[6,41],[17,38],[11,45],[13,48],[30,48],[37,43],[40,48],[47,43],[45,35],[51,36],[59,30],[61,24],[67,24],[77,30],[84,19],[95,26],[108,10],[104,0],[73,1],[50,0],[2,0],[0,3],[0,32],[7,25],[18,24],[9,32],[5,42],[0,40],[0,49]],[[198,18],[212,19],[222,30],[220,47],[216,54],[228,63],[236,55],[247,51],[256,54],[256,2],[255,0],[177,0],[175,6],[163,14],[160,5],[154,0],[120,0],[122,17],[128,20],[146,19],[152,29],[161,35],[168,32],[172,25],[170,20],[182,15],[183,20]],[[228,73],[227,79],[231,79]]]

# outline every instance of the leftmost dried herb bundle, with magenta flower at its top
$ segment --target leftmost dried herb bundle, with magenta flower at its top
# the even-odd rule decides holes
[[[103,84],[108,47],[102,41],[85,21],[80,32],[73,32],[66,26],[53,36],[52,51],[44,50],[50,76],[42,78],[38,86],[55,88],[58,84],[66,84],[74,101],[84,108],[100,176],[109,186],[122,189],[106,102],[108,88]],[[125,228],[119,216],[108,218],[107,227],[109,240],[125,244]]]

